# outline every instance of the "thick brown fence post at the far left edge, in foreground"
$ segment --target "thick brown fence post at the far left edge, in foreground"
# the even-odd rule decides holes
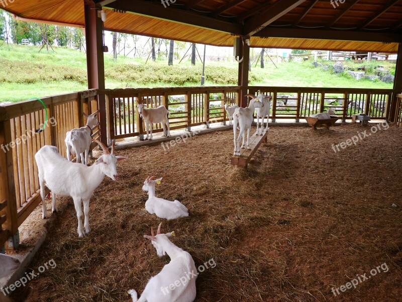
[[[9,146],[12,142],[10,122],[10,120],[0,122],[0,146]],[[11,147],[9,150],[6,148],[6,153],[4,150],[0,151],[0,201],[7,200],[6,225],[9,236],[6,243],[7,250],[15,250],[20,243],[13,152],[15,149]]]

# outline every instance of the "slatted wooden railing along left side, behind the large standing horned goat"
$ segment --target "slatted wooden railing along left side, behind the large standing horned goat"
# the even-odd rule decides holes
[[[83,112],[97,110],[97,91],[41,101],[43,104],[30,100],[0,107],[0,249],[7,238],[16,241],[9,248],[18,245],[18,227],[41,202],[36,152],[48,144],[65,156],[66,132],[85,125]],[[99,136],[98,127],[92,136]]]

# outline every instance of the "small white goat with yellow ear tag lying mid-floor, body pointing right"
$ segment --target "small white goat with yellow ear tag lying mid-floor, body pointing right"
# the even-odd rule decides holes
[[[155,196],[155,184],[160,184],[162,177],[154,180],[154,176],[147,177],[142,189],[148,192],[145,209],[150,214],[167,220],[188,216],[188,209],[178,200],[169,201]]]

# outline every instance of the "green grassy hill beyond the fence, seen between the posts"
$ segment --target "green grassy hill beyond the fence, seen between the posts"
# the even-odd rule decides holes
[[[85,53],[55,47],[54,52],[42,51],[36,46],[4,44],[0,47],[0,102],[21,101],[32,97],[45,97],[85,90],[86,56]],[[139,88],[139,87],[170,87],[198,86],[202,74],[202,65],[197,62],[191,66],[189,61],[173,66],[167,65],[167,59],[157,59],[156,62],[146,58],[119,56],[113,61],[112,56],[105,57],[107,88]],[[324,64],[326,62],[323,62]],[[333,64],[333,62],[327,62]],[[392,88],[392,84],[357,81],[349,75],[333,74],[322,68],[313,68],[311,61],[276,63],[277,68],[266,61],[265,68],[253,67],[249,81],[250,85],[261,86],[295,86],[295,87],[344,87],[344,88]],[[357,63],[345,62],[352,69],[367,65],[373,70],[377,62]],[[394,72],[395,65],[381,62],[381,65]],[[236,85],[236,62],[206,63],[206,85]],[[367,68],[368,67],[368,68]]]

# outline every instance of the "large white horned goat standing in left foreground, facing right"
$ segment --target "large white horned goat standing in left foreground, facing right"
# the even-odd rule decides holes
[[[89,228],[89,199],[93,191],[103,181],[105,175],[112,180],[117,180],[118,173],[116,164],[126,159],[115,155],[115,146],[112,145],[112,154],[102,142],[92,139],[99,144],[104,154],[100,156],[92,166],[77,165],[64,159],[54,146],[43,146],[35,155],[38,165],[39,184],[42,197],[42,218],[47,218],[45,203],[45,183],[53,192],[52,211],[57,212],[56,194],[71,196],[74,200],[75,210],[78,217],[78,235],[84,237],[90,232]],[[82,228],[82,209],[84,204],[84,226]]]

